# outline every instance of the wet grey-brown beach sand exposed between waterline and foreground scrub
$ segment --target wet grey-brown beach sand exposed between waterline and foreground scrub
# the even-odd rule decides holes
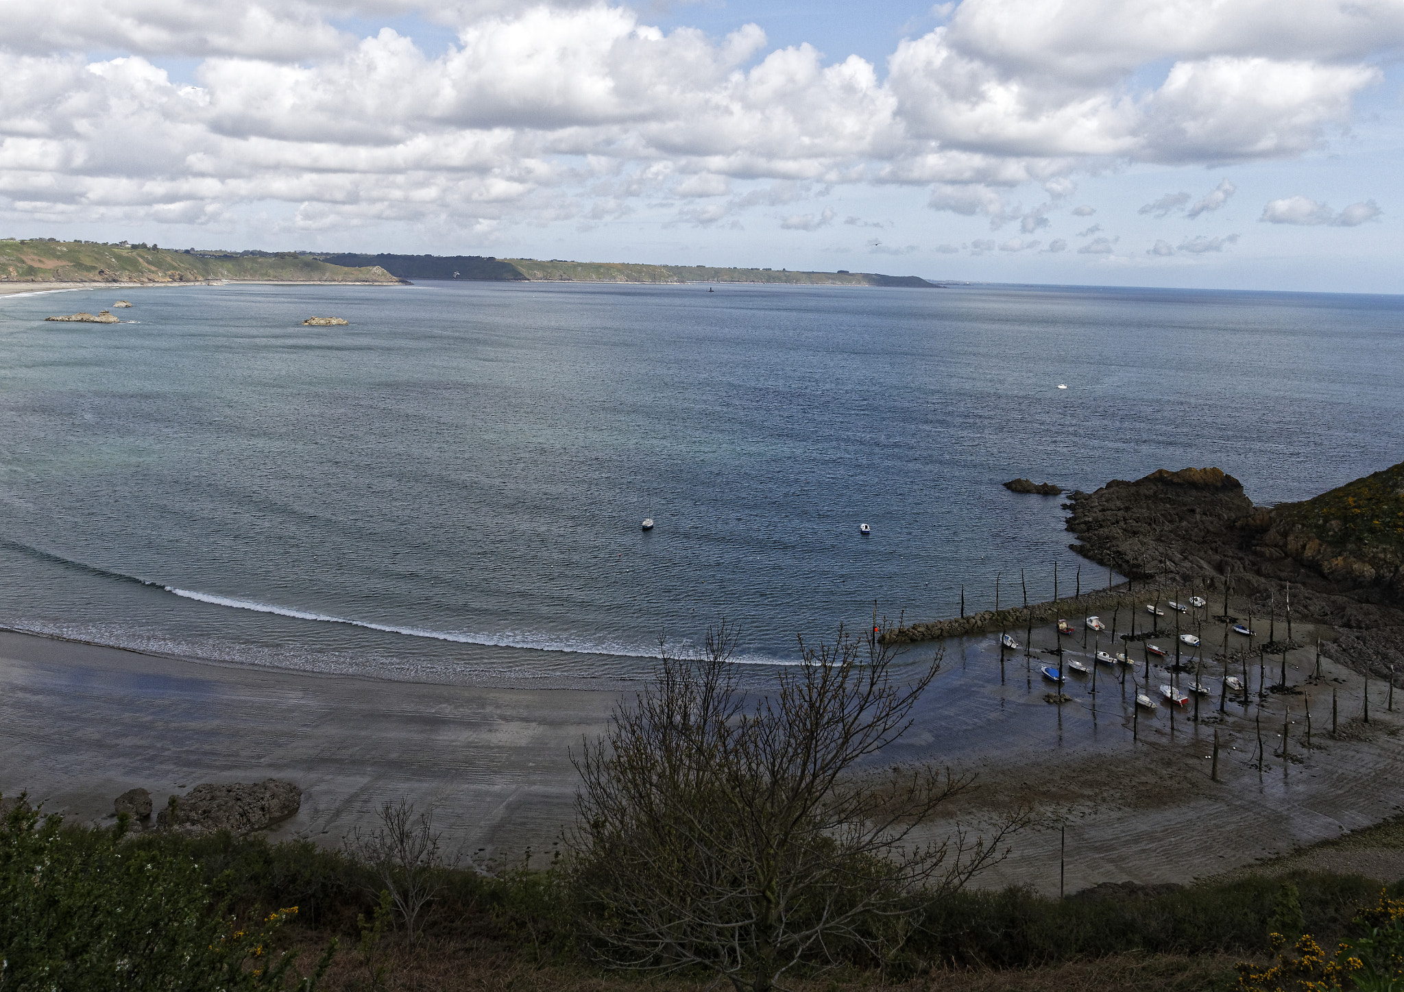
[[[1299,641],[1314,638],[1311,629],[1294,633]],[[1210,623],[1202,634],[1212,658],[1221,624]],[[1025,640],[1025,631],[1016,636]],[[1231,647],[1241,643],[1230,640]],[[1287,681],[1304,695],[1259,697],[1254,662],[1250,706],[1240,695],[1220,714],[1221,664],[1206,662],[1205,682],[1214,695],[1200,702],[1199,723],[1191,720],[1191,704],[1172,724],[1157,692],[1170,673],[1154,659],[1150,695],[1157,706],[1134,717],[1132,678],[1141,681],[1146,672],[1136,647],[1134,676],[1125,683],[1123,666],[1104,664],[1097,693],[1091,678],[1074,675],[1064,686],[1073,702],[1046,703],[1054,685],[1038,666],[1059,664],[1045,652],[1056,641],[1052,627],[1035,629],[1032,655],[1005,654],[1002,683],[997,636],[948,643],[914,728],[885,755],[979,775],[979,789],[946,811],[939,831],[956,821],[979,829],[1004,810],[1033,808],[1040,825],[1014,840],[1008,860],[983,885],[1031,884],[1057,894],[1063,824],[1063,885],[1073,892],[1102,881],[1188,883],[1221,874],[1404,808],[1404,693],[1389,713],[1384,683],[1370,686],[1365,724],[1360,676],[1324,662],[1325,678],[1309,685],[1314,651],[1297,650],[1289,655]],[[1157,643],[1171,645],[1170,638]],[[1081,631],[1063,645],[1064,658],[1095,664],[1092,641],[1084,648]],[[1279,678],[1272,661],[1269,686]],[[1241,666],[1236,671],[1241,676]],[[305,793],[302,811],[274,836],[338,843],[378,803],[406,796],[432,804],[439,825],[470,852],[512,856],[526,846],[549,847],[569,821],[576,772],[567,749],[600,732],[616,700],[614,690],[423,685],[212,665],[22,634],[0,634],[0,790],[28,787],[46,808],[80,819],[108,814],[112,797],[133,786],[164,803],[199,782],[274,776]],[[1338,738],[1330,732],[1332,689]],[[1293,721],[1286,759],[1279,737],[1285,706]],[[1217,783],[1209,758],[1216,728]],[[1396,860],[1362,864],[1387,874]]]

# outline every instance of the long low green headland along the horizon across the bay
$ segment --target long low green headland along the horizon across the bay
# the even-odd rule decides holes
[[[914,275],[799,272],[775,268],[538,261],[484,255],[336,254],[161,248],[119,241],[0,239],[0,285],[312,282],[393,285],[411,279],[472,282],[768,283],[938,289]]]

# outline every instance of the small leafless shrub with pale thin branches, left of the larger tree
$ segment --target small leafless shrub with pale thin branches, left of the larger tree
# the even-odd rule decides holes
[[[350,850],[365,862],[389,892],[396,915],[404,923],[409,941],[420,936],[425,908],[444,885],[449,867],[434,829],[434,812],[414,810],[413,803],[382,803],[379,824],[366,833],[351,832]]]

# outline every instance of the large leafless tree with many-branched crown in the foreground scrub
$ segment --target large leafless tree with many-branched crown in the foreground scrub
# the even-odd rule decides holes
[[[657,681],[574,756],[570,880],[609,964],[701,965],[737,992],[768,992],[845,947],[880,956],[914,899],[1002,857],[1019,817],[988,838],[914,836],[972,777],[868,768],[939,668],[938,655],[900,681],[889,630],[800,640],[803,664],[748,696],[723,623],[701,657],[664,652]]]

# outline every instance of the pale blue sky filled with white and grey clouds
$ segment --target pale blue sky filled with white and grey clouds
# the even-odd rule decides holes
[[[1404,0],[0,0],[0,237],[1404,292]]]

